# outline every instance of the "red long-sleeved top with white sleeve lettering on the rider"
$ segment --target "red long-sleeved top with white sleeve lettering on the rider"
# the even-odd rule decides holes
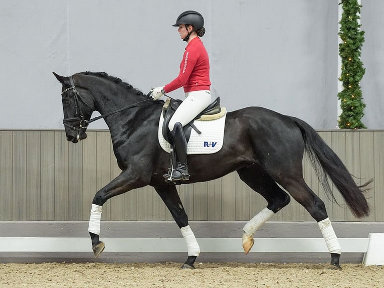
[[[208,53],[199,37],[189,41],[185,47],[178,76],[164,86],[166,93],[181,86],[184,92],[210,90],[210,61]]]

